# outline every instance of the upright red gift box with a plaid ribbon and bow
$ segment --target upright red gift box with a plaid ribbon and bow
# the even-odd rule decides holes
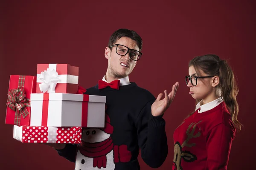
[[[35,91],[35,76],[10,76],[6,124],[30,125],[30,94]]]

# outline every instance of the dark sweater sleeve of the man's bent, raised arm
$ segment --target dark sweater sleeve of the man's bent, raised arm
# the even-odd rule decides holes
[[[152,116],[151,114],[153,102],[150,101],[144,106],[137,117],[135,126],[143,161],[148,166],[157,168],[166,159],[168,145],[163,116]]]

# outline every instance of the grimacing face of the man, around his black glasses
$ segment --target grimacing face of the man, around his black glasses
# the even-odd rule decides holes
[[[128,37],[122,37],[114,44],[125,45],[130,49],[139,51],[137,42]],[[112,50],[106,47],[105,57],[108,59],[108,75],[114,78],[123,78],[128,76],[133,71],[137,63],[137,61],[134,61],[129,57],[129,53],[125,56],[116,54],[116,46],[113,46]]]

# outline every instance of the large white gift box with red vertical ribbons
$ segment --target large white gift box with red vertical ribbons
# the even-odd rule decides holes
[[[106,96],[45,93],[30,98],[30,126],[105,126]]]

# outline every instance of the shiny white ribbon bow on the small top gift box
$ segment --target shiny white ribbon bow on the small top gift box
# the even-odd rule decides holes
[[[39,79],[43,82],[39,84],[39,88],[41,92],[45,93],[48,91],[48,93],[55,93],[55,87],[57,83],[61,80],[59,78],[59,75],[57,71],[51,70],[47,68],[47,71],[42,71],[39,75]]]

